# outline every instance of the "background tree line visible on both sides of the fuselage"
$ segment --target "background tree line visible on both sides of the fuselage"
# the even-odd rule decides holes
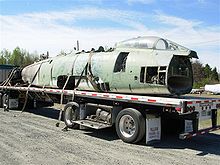
[[[39,61],[37,52],[29,53],[25,49],[16,47],[12,52],[3,49],[0,51],[0,64],[11,64],[15,66],[27,66],[35,61]],[[193,88],[203,87],[205,84],[219,83],[219,75],[216,67],[211,68],[208,64],[204,65],[198,60],[192,63],[194,86]]]

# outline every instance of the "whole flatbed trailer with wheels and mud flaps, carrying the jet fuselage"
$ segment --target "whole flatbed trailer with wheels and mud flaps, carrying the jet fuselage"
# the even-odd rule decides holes
[[[115,125],[118,136],[137,143],[146,135],[146,143],[161,139],[162,131],[176,131],[186,139],[220,129],[217,110],[220,99],[191,96],[146,96],[92,91],[64,90],[30,86],[0,86],[0,105],[4,110],[65,104],[66,128],[103,129]],[[211,127],[199,129],[202,120]]]

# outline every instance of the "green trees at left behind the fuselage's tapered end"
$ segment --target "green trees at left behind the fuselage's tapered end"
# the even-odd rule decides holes
[[[16,47],[12,52],[3,49],[0,51],[0,64],[11,64],[15,66],[27,66],[39,60],[37,52],[29,53],[25,49]]]

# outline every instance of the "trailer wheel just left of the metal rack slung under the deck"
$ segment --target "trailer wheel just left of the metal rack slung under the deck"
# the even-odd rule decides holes
[[[79,105],[75,102],[67,103],[64,107],[64,122],[68,128],[78,128],[73,121],[79,119]]]

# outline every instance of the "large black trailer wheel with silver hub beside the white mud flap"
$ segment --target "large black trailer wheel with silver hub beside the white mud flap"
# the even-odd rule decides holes
[[[116,117],[116,132],[120,139],[127,143],[139,142],[145,134],[143,115],[133,108],[126,108]]]

